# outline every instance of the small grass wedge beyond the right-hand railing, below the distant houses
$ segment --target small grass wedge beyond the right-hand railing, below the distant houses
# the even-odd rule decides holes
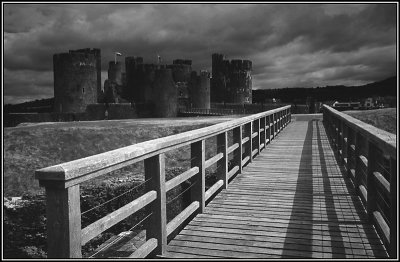
[[[344,111],[343,113],[389,133],[397,134],[396,111],[396,108],[383,108],[375,110]]]

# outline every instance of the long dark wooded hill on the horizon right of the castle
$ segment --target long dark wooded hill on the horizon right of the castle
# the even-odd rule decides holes
[[[316,88],[282,88],[253,90],[253,103],[262,103],[265,99],[280,99],[282,102],[304,103],[307,97],[316,101],[357,101],[373,96],[397,96],[396,76],[383,81],[373,82],[362,86],[326,86]]]

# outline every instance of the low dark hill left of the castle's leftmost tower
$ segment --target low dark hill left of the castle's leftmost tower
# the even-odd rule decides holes
[[[53,112],[54,97],[21,104],[4,105],[4,113],[50,113]]]

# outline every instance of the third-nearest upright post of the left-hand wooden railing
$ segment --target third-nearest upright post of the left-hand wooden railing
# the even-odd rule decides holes
[[[191,198],[192,201],[199,201],[198,213],[204,212],[205,207],[205,141],[201,140],[191,144],[191,165],[192,167],[198,167],[199,173],[193,176]]]

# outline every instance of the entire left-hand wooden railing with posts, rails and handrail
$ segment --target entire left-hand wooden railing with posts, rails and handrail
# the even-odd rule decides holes
[[[130,257],[162,255],[167,236],[191,215],[202,213],[206,201],[219,189],[227,188],[228,180],[241,173],[290,120],[290,106],[285,106],[37,170],[35,177],[46,189],[48,257],[82,257],[82,245],[146,206],[152,212],[147,241]],[[228,132],[233,133],[232,145],[228,144]],[[206,160],[205,139],[211,137],[217,137],[218,150]],[[164,154],[187,145],[191,147],[191,168],[165,181]],[[229,170],[228,157],[233,152]],[[144,161],[145,179],[151,181],[146,183],[146,193],[82,229],[80,184],[139,161]],[[218,169],[218,181],[206,191],[205,169],[215,163],[223,168]],[[167,223],[166,192],[190,178],[195,182],[191,204]]]

